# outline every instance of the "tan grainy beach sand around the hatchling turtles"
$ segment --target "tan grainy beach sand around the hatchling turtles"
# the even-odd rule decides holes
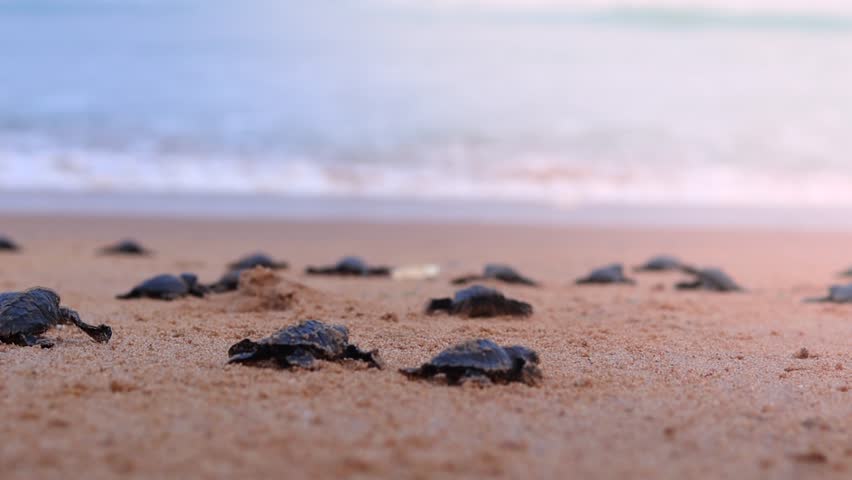
[[[107,345],[64,328],[52,350],[0,345],[0,478],[845,478],[852,477],[852,306],[802,304],[852,264],[849,233],[3,218],[26,251],[0,289],[44,285]],[[153,258],[97,247],[133,236]],[[289,260],[295,300],[239,294],[113,297],[161,272],[211,281],[241,254]],[[676,292],[676,274],[575,286],[611,261],[670,252],[719,265],[744,294]],[[435,262],[435,281],[309,278],[356,253]],[[526,320],[421,313],[447,279],[504,261],[544,283],[499,286]],[[284,288],[282,287],[282,288]],[[289,288],[289,287],[287,287]],[[276,305],[273,305],[275,307]],[[280,305],[279,305],[280,306]],[[226,351],[313,317],[347,325],[388,368],[226,366]],[[539,351],[540,387],[406,380],[471,337]],[[797,359],[807,348],[815,358]]]

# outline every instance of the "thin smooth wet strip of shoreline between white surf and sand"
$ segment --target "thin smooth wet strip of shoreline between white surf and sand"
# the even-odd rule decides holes
[[[505,201],[242,194],[0,191],[0,215],[852,231],[852,207],[588,205],[557,208]]]

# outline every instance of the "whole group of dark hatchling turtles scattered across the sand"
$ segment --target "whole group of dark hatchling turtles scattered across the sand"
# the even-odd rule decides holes
[[[16,251],[20,247],[5,237],[0,237],[0,251]],[[152,252],[133,240],[123,240],[99,250],[104,255],[146,256]],[[191,273],[163,274],[149,278],[118,299],[150,298],[175,300],[187,295],[204,297],[208,293],[237,290],[241,274],[247,270],[264,267],[286,269],[288,264],[274,260],[263,253],[240,258],[228,265],[226,273],[216,282],[202,284]],[[344,257],[327,266],[312,266],[305,270],[309,275],[341,275],[348,277],[386,277],[393,269],[369,265],[358,257]],[[677,283],[677,289],[702,289],[716,292],[734,292],[743,289],[727,274],[716,268],[699,269],[684,264],[677,258],[661,255],[634,268],[635,272],[677,271],[689,275],[689,281]],[[852,272],[850,272],[852,274]],[[526,317],[533,313],[529,303],[508,298],[496,289],[476,282],[494,280],[507,284],[536,287],[532,280],[512,267],[502,264],[486,265],[481,274],[469,274],[451,280],[454,285],[474,285],[462,288],[452,297],[434,298],[426,305],[427,314],[439,312],[469,318],[496,316]],[[634,284],[625,276],[621,264],[607,265],[592,270],[576,280],[586,284]],[[833,286],[826,297],[806,299],[819,302],[852,302],[852,285]],[[46,288],[32,288],[23,292],[0,293],[0,342],[20,346],[50,348],[53,342],[42,335],[59,325],[74,325],[96,342],[107,342],[112,329],[107,325],[89,325],[74,310],[61,305],[59,295]],[[372,368],[384,368],[376,350],[362,350],[349,343],[349,330],[318,320],[305,320],[283,328],[260,340],[244,339],[228,350],[228,363],[273,366],[279,368],[314,368],[317,360],[355,360]],[[541,378],[538,354],[524,346],[501,346],[489,339],[473,339],[451,346],[428,362],[400,372],[412,379],[441,378],[450,385],[469,381],[477,383],[521,382],[536,384]]]

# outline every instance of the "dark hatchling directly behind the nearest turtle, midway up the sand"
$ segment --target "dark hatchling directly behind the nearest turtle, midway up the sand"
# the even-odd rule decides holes
[[[533,308],[529,303],[506,298],[493,288],[474,285],[457,291],[453,298],[430,300],[426,306],[426,313],[438,311],[471,318],[499,315],[526,317],[532,315]]]

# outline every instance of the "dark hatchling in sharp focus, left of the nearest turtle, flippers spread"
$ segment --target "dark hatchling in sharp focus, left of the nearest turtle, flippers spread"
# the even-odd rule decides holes
[[[384,367],[377,350],[368,352],[349,343],[349,330],[346,327],[317,320],[302,321],[256,342],[242,340],[231,346],[228,356],[228,363],[271,362],[282,368],[312,368],[315,360],[347,358],[367,362],[370,367]]]

